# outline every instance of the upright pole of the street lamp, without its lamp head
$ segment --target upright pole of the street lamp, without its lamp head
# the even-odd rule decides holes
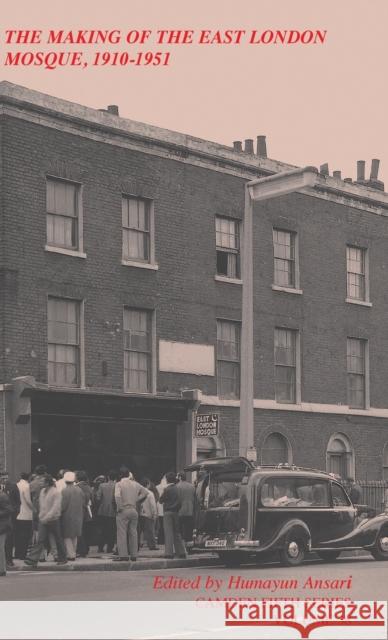
[[[254,445],[253,421],[253,202],[245,187],[242,246],[242,323],[239,453]]]

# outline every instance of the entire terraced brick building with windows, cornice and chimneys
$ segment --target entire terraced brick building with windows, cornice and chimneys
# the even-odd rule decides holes
[[[0,468],[159,479],[238,454],[245,184],[291,167],[8,82],[0,150]],[[254,444],[378,479],[388,195],[376,166],[321,178],[254,207]]]

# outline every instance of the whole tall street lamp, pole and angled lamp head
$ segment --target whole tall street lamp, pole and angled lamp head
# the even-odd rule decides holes
[[[293,169],[245,185],[242,242],[242,322],[239,453],[252,455],[254,448],[254,339],[253,339],[253,203],[312,188],[318,181],[315,167]],[[254,455],[254,453],[253,453]]]

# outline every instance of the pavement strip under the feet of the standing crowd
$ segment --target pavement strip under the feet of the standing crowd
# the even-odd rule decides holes
[[[198,553],[189,554],[186,559],[183,558],[164,558],[164,548],[161,546],[157,551],[150,551],[147,548],[141,548],[136,562],[113,562],[114,556],[108,553],[99,553],[96,547],[91,547],[87,558],[77,558],[74,562],[68,562],[65,565],[57,565],[48,556],[46,562],[39,562],[37,567],[28,567],[24,565],[22,560],[14,560],[15,566],[8,569],[8,572],[66,572],[66,571],[159,571],[160,569],[178,569],[190,567],[206,567],[206,566],[222,566],[218,556],[214,553]],[[342,558],[353,558],[370,556],[367,551],[344,551]],[[311,559],[316,559],[315,554],[311,554]]]

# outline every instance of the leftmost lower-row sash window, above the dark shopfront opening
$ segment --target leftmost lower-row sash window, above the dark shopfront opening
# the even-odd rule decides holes
[[[48,383],[80,386],[80,303],[48,299]]]

